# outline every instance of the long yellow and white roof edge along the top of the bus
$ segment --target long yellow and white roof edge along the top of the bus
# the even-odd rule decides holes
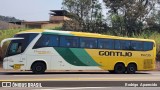
[[[122,39],[122,40],[137,40],[137,41],[152,41],[152,39],[140,39],[140,38],[129,38],[129,37],[119,37],[111,35],[103,35],[98,33],[86,33],[86,32],[75,32],[75,31],[61,31],[61,30],[45,30],[45,29],[32,29],[19,32],[17,34],[23,33],[43,33],[43,34],[56,34],[56,35],[67,35],[67,36],[82,36],[82,37],[92,37],[92,38],[111,38],[111,39]]]

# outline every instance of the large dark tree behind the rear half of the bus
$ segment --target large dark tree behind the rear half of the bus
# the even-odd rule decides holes
[[[121,28],[116,28],[123,36],[132,36],[142,32],[143,23],[154,8],[155,0],[103,0],[106,8],[109,9],[110,15],[121,17],[119,23]],[[115,23],[117,22],[117,23]]]

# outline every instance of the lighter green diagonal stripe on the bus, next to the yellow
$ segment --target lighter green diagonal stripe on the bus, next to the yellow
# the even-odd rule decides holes
[[[70,50],[84,64],[88,66],[100,66],[84,49],[70,48]]]

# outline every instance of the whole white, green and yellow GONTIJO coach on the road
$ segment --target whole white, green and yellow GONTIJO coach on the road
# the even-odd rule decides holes
[[[4,69],[105,70],[129,73],[155,69],[156,46],[150,39],[126,38],[94,33],[28,30],[10,40]]]

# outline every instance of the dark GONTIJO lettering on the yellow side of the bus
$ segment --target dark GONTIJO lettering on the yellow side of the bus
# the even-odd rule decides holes
[[[114,52],[114,51],[99,51],[100,56],[125,56],[131,57],[131,52]]]

